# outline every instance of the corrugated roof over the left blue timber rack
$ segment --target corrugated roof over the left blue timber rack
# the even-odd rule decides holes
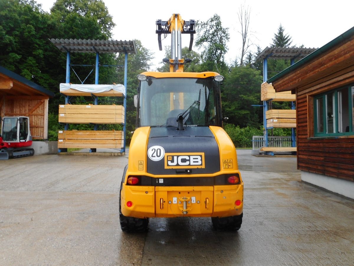
[[[62,52],[137,53],[134,40],[50,39],[50,41]]]

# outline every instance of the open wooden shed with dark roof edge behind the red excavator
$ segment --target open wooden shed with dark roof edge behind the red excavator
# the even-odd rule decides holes
[[[48,138],[48,100],[54,93],[0,66],[0,116],[28,116],[33,139]]]

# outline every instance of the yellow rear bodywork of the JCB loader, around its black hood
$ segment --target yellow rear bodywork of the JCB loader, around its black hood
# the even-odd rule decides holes
[[[220,151],[220,171],[213,174],[203,174],[203,177],[213,177],[220,174],[238,174],[240,184],[214,185],[214,186],[135,186],[126,185],[129,175],[144,175],[153,178],[173,178],[171,175],[152,175],[146,172],[147,142],[149,127],[137,128],[130,147],[129,164],[124,178],[121,193],[121,211],[124,216],[146,217],[226,217],[240,215],[243,211],[243,182],[238,169],[236,149],[221,128],[209,127],[215,135]],[[136,145],[138,144],[138,145]],[[134,156],[132,156],[134,155]],[[139,165],[139,162],[142,165]],[[180,174],[178,177],[198,177],[198,174]],[[194,197],[192,199],[192,197]],[[195,201],[195,202],[192,202]],[[235,201],[240,200],[241,205],[236,206]],[[131,207],[126,202],[131,201]],[[185,201],[185,205],[183,205]],[[199,203],[198,203],[199,201]]]

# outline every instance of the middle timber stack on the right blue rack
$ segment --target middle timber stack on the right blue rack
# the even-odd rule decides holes
[[[296,110],[273,109],[265,112],[267,128],[286,128],[296,127]]]

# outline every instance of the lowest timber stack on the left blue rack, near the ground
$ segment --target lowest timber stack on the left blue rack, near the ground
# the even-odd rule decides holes
[[[124,145],[123,131],[67,130],[58,133],[58,148],[120,149]]]

